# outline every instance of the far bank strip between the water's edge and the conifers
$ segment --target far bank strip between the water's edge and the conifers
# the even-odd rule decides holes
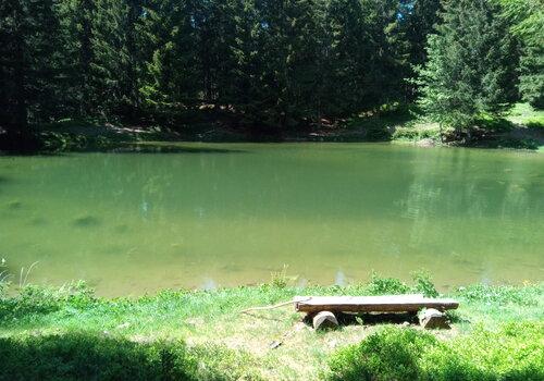
[[[482,115],[469,130],[441,128],[419,116],[413,106],[391,105],[346,120],[323,120],[304,128],[280,131],[236,126],[201,115],[187,124],[143,121],[61,120],[37,128],[47,151],[110,150],[141,142],[396,142],[418,146],[466,146],[542,150],[544,111],[516,105],[502,119]]]

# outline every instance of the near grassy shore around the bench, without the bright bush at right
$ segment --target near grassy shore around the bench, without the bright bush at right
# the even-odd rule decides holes
[[[309,286],[302,290],[289,286],[285,279],[276,279],[272,284],[261,286],[210,292],[164,291],[137,299],[96,297],[82,285],[61,290],[26,286],[16,294],[4,295],[0,302],[0,356],[8,359],[2,361],[0,379],[2,372],[8,376],[27,374],[30,379],[53,376],[60,379],[137,379],[135,374],[145,376],[140,379],[337,378],[342,373],[338,373],[338,356],[342,356],[342,351],[348,351],[349,345],[364,343],[369,335],[374,337],[373,334],[384,327],[397,327],[399,332],[415,330],[419,332],[416,333],[418,337],[421,329],[417,325],[400,328],[403,319],[371,322],[371,319],[361,317],[338,330],[314,332],[301,321],[301,316],[292,306],[250,314],[240,311],[289,300],[300,294],[406,292],[434,294],[435,290],[422,275],[417,276],[413,285],[374,275],[368,284]],[[460,308],[452,315],[452,330],[431,333],[440,345],[455,340],[470,342],[484,339],[486,345],[494,345],[489,335],[479,336],[478,332],[495,332],[504,330],[505,324],[514,323],[521,324],[510,328],[520,330],[516,345],[523,345],[528,340],[528,335],[523,334],[526,330],[532,335],[536,332],[531,340],[531,348],[539,348],[542,354],[543,284],[474,285],[461,287],[450,296],[459,299]],[[390,334],[399,335],[395,332]],[[515,335],[512,337],[517,340]],[[272,348],[276,346],[271,345],[274,342],[281,345]],[[516,345],[511,347],[517,348]],[[90,357],[85,357],[83,353],[88,353]],[[134,358],[139,360],[135,362]],[[58,368],[64,373],[50,369],[48,364],[51,361],[61,364]],[[94,366],[96,361],[100,361],[101,366]],[[126,362],[123,367],[125,372],[115,368],[120,361]],[[111,372],[104,373],[110,366]],[[376,365],[374,371],[380,366],[383,364]],[[493,376],[492,370],[486,371]],[[172,378],[164,374],[172,374]]]

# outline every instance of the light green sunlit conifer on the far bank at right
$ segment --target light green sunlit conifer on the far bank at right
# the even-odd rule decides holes
[[[442,19],[419,72],[419,102],[431,119],[462,128],[516,99],[516,45],[492,0],[447,1]]]

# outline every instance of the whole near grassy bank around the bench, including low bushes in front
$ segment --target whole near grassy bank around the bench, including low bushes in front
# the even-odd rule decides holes
[[[314,332],[292,306],[240,314],[294,295],[437,295],[374,275],[367,284],[271,284],[210,292],[97,297],[83,283],[34,285],[0,298],[0,380],[542,380],[544,284],[472,285],[452,330],[410,317],[346,319]],[[408,325],[405,321],[408,321]]]

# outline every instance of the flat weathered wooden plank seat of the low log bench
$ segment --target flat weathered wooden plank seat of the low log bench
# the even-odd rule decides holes
[[[386,296],[295,296],[295,308],[299,312],[417,312],[422,308],[440,311],[457,309],[454,299],[428,298],[423,295]]]

